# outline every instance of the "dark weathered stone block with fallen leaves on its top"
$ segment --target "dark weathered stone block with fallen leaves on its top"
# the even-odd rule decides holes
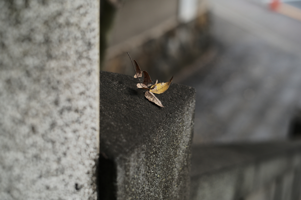
[[[100,151],[115,163],[117,199],[189,199],[194,88],[172,83],[156,94],[161,108],[133,76],[100,80]]]

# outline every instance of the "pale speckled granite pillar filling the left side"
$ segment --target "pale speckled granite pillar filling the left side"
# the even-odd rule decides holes
[[[0,199],[95,199],[98,1],[0,1]]]

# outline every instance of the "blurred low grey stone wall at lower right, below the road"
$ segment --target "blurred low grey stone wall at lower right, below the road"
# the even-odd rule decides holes
[[[191,199],[299,199],[300,167],[300,142],[194,146]]]

